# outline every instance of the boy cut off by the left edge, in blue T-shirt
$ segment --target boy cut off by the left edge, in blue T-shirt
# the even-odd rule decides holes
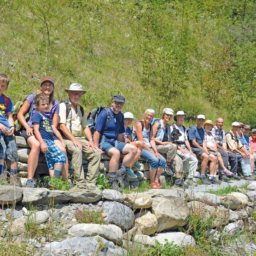
[[[17,145],[13,137],[15,128],[12,111],[14,111],[14,107],[12,100],[3,94],[8,89],[9,81],[8,76],[0,74],[0,183],[4,184],[7,181],[4,174],[4,160],[6,158],[11,162],[10,185],[21,186],[17,177]]]

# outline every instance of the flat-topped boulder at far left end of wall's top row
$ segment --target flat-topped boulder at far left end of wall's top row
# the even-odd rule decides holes
[[[22,199],[22,188],[17,186],[0,186],[0,204],[16,204]]]

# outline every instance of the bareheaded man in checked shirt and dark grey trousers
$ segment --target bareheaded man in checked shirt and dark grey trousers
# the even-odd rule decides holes
[[[232,176],[235,180],[240,180],[241,178],[237,175],[238,160],[237,160],[235,153],[227,150],[226,134],[225,134],[225,131],[222,129],[223,124],[224,124],[223,118],[218,117],[216,119],[215,126],[211,130],[211,133],[217,143],[217,150],[218,150],[218,152],[221,153],[221,157],[223,159],[224,166],[227,169],[228,161],[231,166],[231,173],[226,172],[226,170],[223,170],[220,167],[220,175],[219,175],[220,180],[229,181],[230,179],[227,178],[227,176],[229,176],[229,177]]]

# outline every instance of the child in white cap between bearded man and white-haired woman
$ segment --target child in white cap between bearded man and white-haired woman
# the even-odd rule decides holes
[[[131,112],[125,112],[123,115],[125,132],[123,133],[122,141],[126,143],[131,143],[132,145],[135,145],[138,149],[137,155],[134,157],[134,161],[131,164],[130,168],[134,166],[138,171],[143,171],[144,168],[140,165],[138,161],[141,151],[143,149],[143,143],[139,140],[131,142],[131,128],[129,126],[131,126],[133,121],[135,120],[134,115]]]

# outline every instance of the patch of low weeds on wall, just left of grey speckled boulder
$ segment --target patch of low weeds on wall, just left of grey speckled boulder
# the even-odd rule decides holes
[[[106,224],[104,217],[102,216],[103,212],[95,210],[86,210],[86,209],[77,209],[75,212],[76,220],[79,223],[94,223],[94,224]]]

